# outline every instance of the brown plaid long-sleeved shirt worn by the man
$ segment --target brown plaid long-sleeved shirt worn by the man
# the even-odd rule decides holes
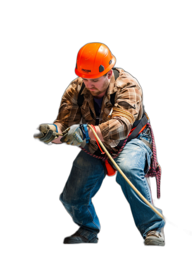
[[[121,68],[116,68],[120,75],[115,81],[114,74],[110,79],[108,90],[103,98],[101,113],[99,118],[99,128],[103,135],[103,144],[114,153],[118,152],[115,148],[120,140],[126,139],[132,129],[132,124],[125,117],[108,118],[111,108],[110,94],[116,92],[115,105],[129,111],[135,118],[140,120],[143,115],[143,94],[138,81],[129,73],[124,72]],[[83,83],[82,78],[77,78],[71,82],[62,96],[57,120],[54,121],[62,131],[74,124],[88,123],[95,125],[96,112],[94,109],[94,97],[84,88],[84,102],[81,108],[77,105],[78,94]],[[91,117],[89,110],[91,108],[94,118]],[[88,143],[90,152],[93,154],[98,148],[96,141],[90,140]]]

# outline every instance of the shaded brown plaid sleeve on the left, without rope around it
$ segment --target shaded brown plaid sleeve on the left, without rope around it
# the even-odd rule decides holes
[[[81,121],[81,109],[77,105],[77,97],[81,89],[80,84],[79,78],[72,81],[62,96],[57,120],[53,122],[60,127],[61,131],[79,124]]]

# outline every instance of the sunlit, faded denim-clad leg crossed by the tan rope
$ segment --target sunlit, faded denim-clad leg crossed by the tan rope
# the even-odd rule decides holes
[[[151,192],[144,175],[148,171],[151,155],[151,149],[144,142],[135,138],[128,142],[120,156],[114,159],[122,172],[150,203],[152,203]],[[148,231],[161,229],[165,226],[165,221],[143,202],[119,172],[116,176],[116,182],[120,185],[130,204],[135,226],[143,239],[145,239]],[[162,213],[161,210],[157,210]]]

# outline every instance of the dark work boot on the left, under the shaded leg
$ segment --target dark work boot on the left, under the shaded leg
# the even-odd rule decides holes
[[[78,230],[74,232],[71,236],[66,236],[63,240],[63,244],[84,244],[84,243],[98,243],[98,237],[94,237],[91,240],[86,239],[81,236],[81,232]]]

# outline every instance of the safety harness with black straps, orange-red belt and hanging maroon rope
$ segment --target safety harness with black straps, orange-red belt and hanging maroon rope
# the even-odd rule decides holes
[[[115,80],[117,80],[117,78],[119,77],[119,72],[116,70],[115,67],[112,68],[113,69],[113,73],[114,73],[114,76],[115,76]],[[81,86],[81,90],[79,92],[79,95],[78,95],[78,98],[77,98],[77,104],[78,106],[81,108],[81,106],[83,105],[83,102],[84,102],[84,94],[82,94],[83,90],[84,90],[84,87],[85,87],[85,84],[84,82],[82,83],[82,86]],[[110,102],[112,104],[112,106],[115,105],[115,94],[111,94],[110,95]],[[90,114],[91,114],[91,117],[94,118],[94,113],[93,111],[91,110],[91,108],[89,107],[89,110],[90,110]],[[96,124],[95,125],[98,125],[99,124],[99,117],[96,118]],[[146,125],[148,126],[148,128],[150,129],[150,132],[151,132],[151,137],[152,137],[152,146],[151,144],[146,141],[145,139],[142,139],[141,140],[148,146],[152,149],[152,152],[153,152],[153,155],[152,155],[152,158],[151,158],[151,165],[149,167],[149,171],[147,172],[147,174],[145,175],[145,177],[147,178],[147,182],[149,184],[149,187],[151,189],[151,182],[150,182],[150,177],[156,177],[156,188],[157,188],[157,193],[156,193],[156,196],[157,198],[159,199],[160,198],[160,180],[161,180],[161,168],[160,168],[160,165],[156,162],[156,144],[155,144],[155,139],[154,139],[154,135],[153,135],[153,130],[152,130],[152,127],[149,123],[149,118],[144,110],[144,106],[143,106],[143,115],[142,115],[142,118],[138,121],[134,121],[133,125],[132,125],[132,130],[130,131],[129,135],[127,136],[127,138],[125,140],[121,140],[119,143],[118,143],[118,146],[117,148],[119,149],[118,153],[117,154],[112,154],[111,157],[114,159],[116,157],[118,157],[120,155],[120,152],[122,151],[122,149],[125,147],[125,145],[131,141],[132,139],[136,138],[146,127]],[[97,143],[98,144],[98,143]],[[93,156],[93,157],[96,157],[100,160],[102,160],[103,162],[105,162],[105,167],[107,169],[107,175],[108,176],[113,176],[116,174],[116,169],[114,169],[114,167],[110,164],[110,162],[108,162],[108,156],[107,154],[105,155],[102,155],[101,154],[101,151],[100,149],[98,148],[96,151],[95,151],[95,154],[91,154],[90,152],[88,152],[86,149],[82,148],[81,146],[79,147],[81,148],[82,150],[84,150],[87,154]],[[112,153],[112,152],[111,152]]]

